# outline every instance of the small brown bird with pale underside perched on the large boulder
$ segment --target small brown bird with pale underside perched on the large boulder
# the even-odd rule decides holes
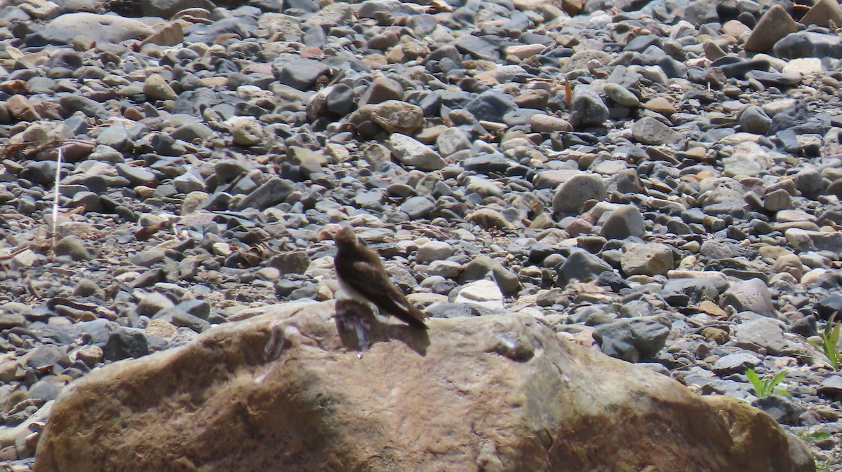
[[[415,328],[427,329],[424,313],[407,301],[386,274],[380,255],[360,243],[354,229],[328,224],[318,233],[319,241],[325,239],[333,239],[336,244],[333,267],[339,283],[338,299],[374,305],[381,314],[397,317]]]

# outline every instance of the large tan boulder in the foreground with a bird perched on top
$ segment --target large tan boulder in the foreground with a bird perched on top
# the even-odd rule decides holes
[[[265,307],[110,364],[52,408],[35,472],[813,470],[765,413],[517,314],[382,324]]]

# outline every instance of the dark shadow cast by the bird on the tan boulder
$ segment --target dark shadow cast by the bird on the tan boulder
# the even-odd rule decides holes
[[[416,353],[427,355],[429,335],[426,329],[408,324],[382,323],[365,303],[337,300],[335,321],[339,340],[345,349],[361,353],[374,344],[397,339]]]

